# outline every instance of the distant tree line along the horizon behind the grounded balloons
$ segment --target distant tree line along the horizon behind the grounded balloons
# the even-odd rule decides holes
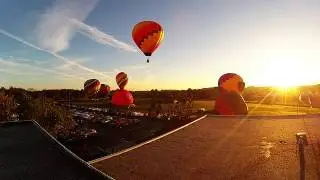
[[[27,91],[21,88],[1,88],[0,92],[5,92],[9,96],[16,94],[27,94],[33,99],[46,97],[55,101],[74,101],[74,100],[88,100],[83,90],[75,89],[52,89],[41,91]],[[247,87],[243,92],[243,97],[246,101],[263,101],[266,104],[281,104],[283,102],[296,102],[301,92],[311,92],[312,94],[320,94],[320,84],[313,86],[301,86],[296,89],[288,89],[282,91],[272,87]],[[107,97],[111,97],[114,91],[111,91]],[[133,91],[132,94],[135,99],[154,99],[161,102],[172,102],[173,100],[214,100],[219,93],[217,87],[203,88],[203,89],[187,89],[187,90],[157,90],[151,91]],[[284,97],[286,99],[284,99]],[[21,97],[19,97],[21,98]],[[99,98],[99,97],[97,97]]]

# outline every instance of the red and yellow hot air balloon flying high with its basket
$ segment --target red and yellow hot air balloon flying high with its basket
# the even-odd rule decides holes
[[[132,30],[132,38],[145,56],[149,57],[159,47],[164,37],[164,31],[160,24],[154,21],[142,21],[136,24]]]

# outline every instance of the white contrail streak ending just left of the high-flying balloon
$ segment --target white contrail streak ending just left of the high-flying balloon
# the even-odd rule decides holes
[[[96,41],[97,43],[104,44],[104,45],[110,45],[112,47],[116,47],[125,51],[130,51],[130,52],[137,52],[137,49],[134,48],[133,46],[124,43],[122,41],[119,41],[116,39],[114,36],[111,36],[109,34],[106,34],[96,27],[89,26],[77,19],[70,19],[72,24],[74,24],[78,31],[89,37],[90,39]]]

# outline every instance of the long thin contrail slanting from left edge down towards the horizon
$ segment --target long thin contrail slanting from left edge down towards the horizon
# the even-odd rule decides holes
[[[48,53],[48,54],[56,57],[57,59],[62,60],[64,63],[66,63],[66,64],[68,64],[68,65],[70,65],[70,66],[77,67],[77,68],[79,68],[79,69],[81,69],[81,70],[90,72],[90,73],[92,73],[92,74],[99,75],[99,76],[101,76],[101,77],[111,79],[111,77],[109,77],[109,76],[107,76],[107,75],[105,75],[105,74],[103,74],[103,73],[101,73],[101,72],[98,72],[98,71],[95,71],[95,70],[93,70],[93,69],[87,68],[87,67],[85,67],[85,66],[77,63],[76,61],[72,61],[72,60],[70,60],[70,59],[68,59],[68,58],[66,58],[66,57],[64,57],[64,56],[61,56],[61,55],[53,52],[53,51],[40,48],[40,47],[38,47],[38,46],[36,46],[36,45],[34,45],[34,44],[31,44],[31,43],[29,43],[29,42],[27,42],[27,41],[25,41],[25,40],[23,40],[23,39],[15,36],[15,35],[13,35],[13,34],[7,32],[7,31],[3,30],[3,29],[0,29],[0,34],[3,34],[3,35],[5,35],[5,36],[7,36],[7,37],[9,37],[9,38],[12,38],[12,39],[14,39],[14,40],[16,40],[16,41],[24,44],[24,45],[27,45],[27,46],[29,46],[29,47],[31,47],[31,48],[36,49],[36,50],[39,50],[39,51]]]

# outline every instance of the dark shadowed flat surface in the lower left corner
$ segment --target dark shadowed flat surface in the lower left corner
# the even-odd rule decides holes
[[[35,124],[0,124],[1,180],[107,179],[64,151]]]

